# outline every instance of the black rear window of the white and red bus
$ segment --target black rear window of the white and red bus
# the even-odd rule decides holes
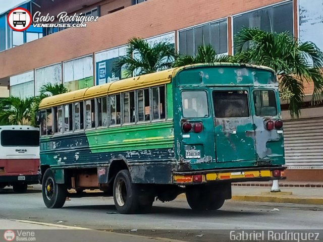
[[[36,130],[3,130],[2,146],[39,146],[39,131]]]

